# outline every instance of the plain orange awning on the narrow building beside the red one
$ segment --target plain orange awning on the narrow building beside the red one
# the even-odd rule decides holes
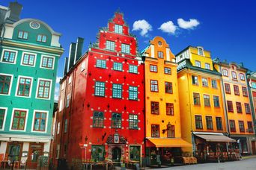
[[[178,148],[178,147],[192,147],[192,144],[183,139],[149,139],[157,148]]]

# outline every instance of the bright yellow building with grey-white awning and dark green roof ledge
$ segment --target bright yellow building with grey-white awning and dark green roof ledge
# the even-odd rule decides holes
[[[211,153],[227,152],[225,107],[221,74],[213,68],[210,51],[189,46],[176,55],[182,138],[192,142],[193,153],[205,160]]]

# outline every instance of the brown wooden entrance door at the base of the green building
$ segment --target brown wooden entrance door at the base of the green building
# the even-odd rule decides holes
[[[28,168],[36,169],[37,160],[43,155],[43,144],[42,143],[30,143],[28,150]]]

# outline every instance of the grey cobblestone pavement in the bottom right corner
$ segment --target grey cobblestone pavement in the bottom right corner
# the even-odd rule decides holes
[[[246,160],[225,162],[225,163],[203,163],[189,166],[174,166],[164,169],[174,170],[256,170],[256,158],[249,158]],[[163,170],[163,169],[161,169]]]

